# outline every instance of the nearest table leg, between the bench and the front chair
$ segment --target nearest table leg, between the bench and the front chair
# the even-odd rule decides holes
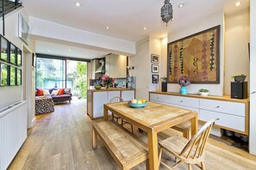
[[[149,169],[159,169],[159,150],[158,150],[158,134],[157,132],[150,129],[147,131],[148,138],[148,158],[149,158]]]

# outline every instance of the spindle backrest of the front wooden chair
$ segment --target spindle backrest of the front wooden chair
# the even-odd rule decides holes
[[[206,141],[209,137],[209,132],[214,124],[215,119],[210,119],[206,124],[204,124],[203,127],[197,131],[196,135],[185,145],[179,155],[192,159],[202,156]]]

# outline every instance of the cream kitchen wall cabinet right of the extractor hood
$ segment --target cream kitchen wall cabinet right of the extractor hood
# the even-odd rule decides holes
[[[110,77],[124,78],[127,76],[127,57],[109,54],[105,58],[105,73]]]

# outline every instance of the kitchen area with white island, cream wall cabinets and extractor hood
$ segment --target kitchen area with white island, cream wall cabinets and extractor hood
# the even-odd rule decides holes
[[[136,78],[130,76],[128,68],[128,57],[116,54],[108,54],[105,58],[91,60],[88,67],[90,84],[87,90],[87,114],[91,119],[103,118],[103,105],[109,103],[113,97],[121,97],[128,101],[135,98]],[[95,87],[102,85],[99,78],[108,75],[115,79],[106,87]]]

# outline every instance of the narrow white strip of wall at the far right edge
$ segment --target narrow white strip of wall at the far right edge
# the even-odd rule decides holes
[[[256,155],[256,1],[251,0],[251,35],[250,35],[250,141],[249,151]],[[253,93],[254,92],[254,93]]]

